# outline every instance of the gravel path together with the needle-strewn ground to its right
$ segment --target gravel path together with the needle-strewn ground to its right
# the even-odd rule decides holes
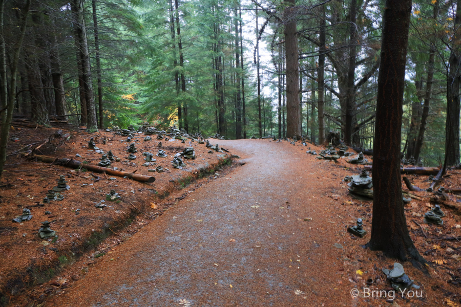
[[[372,203],[351,200],[341,182],[362,166],[317,160],[299,142],[215,142],[246,164],[201,188],[197,184],[198,189],[156,221],[132,236],[133,225],[114,235],[98,252],[81,257],[11,305],[182,306],[181,300],[193,306],[459,305],[460,286],[447,281],[449,272],[460,275],[453,255],[460,254],[456,248],[461,243],[426,239],[410,222],[422,225],[429,237],[460,235],[459,216],[449,208],[443,208],[444,226],[423,224],[429,193],[414,192],[423,200],[406,206],[416,247],[429,262],[443,262],[427,266],[430,276],[403,264],[423,297],[397,293],[393,303],[353,298],[352,289],[390,289],[380,269],[394,262],[362,247],[369,233],[355,238],[346,231],[358,217],[371,231]],[[457,171],[448,174],[444,186],[461,186]],[[421,188],[429,186],[423,182],[427,176],[407,177]],[[107,254],[94,257],[103,251]]]

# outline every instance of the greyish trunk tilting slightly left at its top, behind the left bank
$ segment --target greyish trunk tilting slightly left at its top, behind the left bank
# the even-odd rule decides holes
[[[90,55],[88,50],[87,30],[85,26],[85,16],[83,15],[83,1],[72,0],[72,13],[74,15],[74,25],[76,27],[78,44],[80,51],[81,77],[85,85],[85,97],[87,102],[87,130],[94,132],[98,130],[96,120],[96,108],[93,94],[93,82],[91,78]]]

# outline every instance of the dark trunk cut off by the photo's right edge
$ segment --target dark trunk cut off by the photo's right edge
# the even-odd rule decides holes
[[[453,43],[447,72],[447,122],[445,125],[445,163],[459,164],[459,86],[461,86],[461,50],[459,47],[459,26],[461,25],[461,0],[456,2]]]

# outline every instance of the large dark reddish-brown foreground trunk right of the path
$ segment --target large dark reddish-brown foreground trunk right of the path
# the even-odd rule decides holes
[[[411,0],[387,0],[383,15],[373,142],[373,217],[368,247],[388,257],[424,261],[411,241],[402,201],[400,150]]]

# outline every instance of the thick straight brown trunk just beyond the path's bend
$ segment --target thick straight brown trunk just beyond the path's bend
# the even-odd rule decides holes
[[[291,6],[295,0],[284,1],[288,6],[284,12],[285,19],[285,59],[286,59],[286,136],[301,136],[299,116],[299,63],[296,14]]]

